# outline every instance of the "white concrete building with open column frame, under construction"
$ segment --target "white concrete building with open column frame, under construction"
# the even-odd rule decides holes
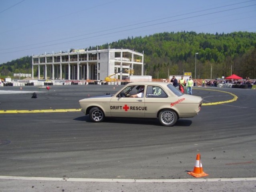
[[[143,74],[143,53],[128,49],[73,50],[67,53],[32,56],[32,79],[34,68],[39,79],[52,80],[104,80],[115,74],[116,79],[129,78],[135,65],[141,66]],[[43,71],[43,78],[40,72]]]

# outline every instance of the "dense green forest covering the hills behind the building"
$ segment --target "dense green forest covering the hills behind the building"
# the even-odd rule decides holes
[[[128,37],[88,50],[124,48],[144,53],[145,74],[168,78],[191,72],[197,79],[215,79],[231,74],[256,79],[256,33],[232,32],[208,34],[163,32],[145,37]],[[83,49],[83,48],[81,48]],[[85,48],[87,49],[87,48]],[[1,76],[32,73],[32,56],[0,65]],[[135,68],[135,75],[141,70]],[[36,71],[34,72],[36,74]]]

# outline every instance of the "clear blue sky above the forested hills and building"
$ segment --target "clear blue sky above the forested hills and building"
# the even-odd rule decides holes
[[[181,31],[256,32],[256,0],[0,0],[0,64]]]

